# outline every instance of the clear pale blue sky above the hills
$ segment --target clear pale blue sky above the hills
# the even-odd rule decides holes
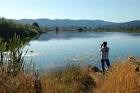
[[[0,0],[0,16],[124,22],[140,20],[140,0]]]

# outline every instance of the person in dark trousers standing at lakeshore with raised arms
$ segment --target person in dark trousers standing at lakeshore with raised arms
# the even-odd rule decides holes
[[[102,52],[102,58],[101,58],[101,63],[102,63],[102,71],[103,74],[105,73],[105,64],[107,65],[108,68],[110,68],[110,61],[108,58],[109,55],[109,47],[107,46],[107,42],[103,42],[101,44],[101,52]]]

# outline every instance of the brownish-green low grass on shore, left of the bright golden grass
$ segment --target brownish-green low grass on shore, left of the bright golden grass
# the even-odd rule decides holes
[[[0,93],[87,93],[94,85],[88,69],[78,65],[68,65],[40,77],[22,71],[13,77],[0,69]]]

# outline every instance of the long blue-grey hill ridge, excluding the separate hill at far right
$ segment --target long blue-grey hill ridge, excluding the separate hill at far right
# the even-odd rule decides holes
[[[71,19],[21,19],[16,20],[22,24],[32,24],[37,22],[42,27],[99,27],[115,24],[113,22],[107,22],[103,20],[71,20]]]

